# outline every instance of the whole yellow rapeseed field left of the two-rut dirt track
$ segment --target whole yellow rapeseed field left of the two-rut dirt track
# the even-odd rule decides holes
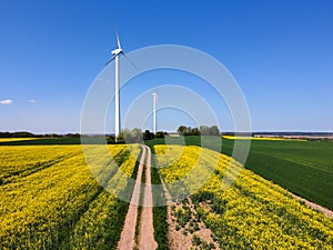
[[[139,146],[130,148],[132,153],[125,146],[110,147],[129,177],[140,152]],[[98,153],[99,147],[92,150]],[[0,166],[1,249],[115,249],[128,203],[91,174],[110,180],[115,171],[118,188],[131,188],[114,164],[102,166],[109,171],[89,169],[81,146],[2,146]]]

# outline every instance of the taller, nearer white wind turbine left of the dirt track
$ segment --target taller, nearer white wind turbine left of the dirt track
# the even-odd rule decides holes
[[[119,136],[120,132],[120,100],[119,100],[119,80],[120,80],[120,67],[119,67],[119,56],[123,54],[135,68],[138,68],[122,51],[121,44],[120,44],[120,39],[118,36],[118,31],[115,29],[115,37],[117,37],[117,43],[118,48],[115,50],[112,50],[111,53],[113,54],[112,58],[105,63],[108,66],[113,59],[114,59],[114,102],[115,102],[115,112],[114,112],[114,123],[115,123],[115,141],[117,137]]]

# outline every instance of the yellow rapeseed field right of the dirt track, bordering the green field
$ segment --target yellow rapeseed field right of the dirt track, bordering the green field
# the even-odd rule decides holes
[[[229,162],[231,171],[240,166],[231,158],[198,147],[155,146],[157,159],[162,167],[160,173],[169,187],[182,179],[185,190],[191,190],[198,179],[183,178],[199,160],[196,178],[214,168],[209,162],[220,158],[214,173],[198,192],[191,196],[196,219],[210,228],[222,249],[332,249],[333,222],[323,214],[294,200],[281,187],[243,169],[230,189],[222,190],[222,176]],[[180,158],[174,151],[182,151]],[[170,164],[170,159],[176,159]],[[193,176],[194,177],[194,176]],[[176,191],[175,191],[176,193]],[[189,206],[174,210],[178,230],[183,234],[193,232],[195,224],[190,220]],[[201,242],[193,234],[193,242]]]

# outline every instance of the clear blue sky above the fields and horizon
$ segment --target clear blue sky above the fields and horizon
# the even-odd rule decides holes
[[[0,131],[79,132],[85,93],[115,48],[114,22],[127,52],[182,44],[221,61],[254,131],[333,131],[332,1],[173,0],[1,1]],[[128,97],[153,87],[129,86],[122,113]],[[223,123],[224,108],[206,94]],[[168,116],[160,128],[176,129],[178,114]]]

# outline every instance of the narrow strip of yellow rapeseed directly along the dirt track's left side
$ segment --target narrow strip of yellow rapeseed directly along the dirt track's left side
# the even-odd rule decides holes
[[[138,147],[129,151],[117,154],[117,160],[122,160],[120,170],[109,181],[105,190],[89,204],[88,210],[80,217],[73,227],[70,239],[65,243],[69,249],[115,249],[120,237],[120,228],[123,227],[128,203],[117,199],[107,190],[125,190],[128,187],[127,177],[133,178],[135,167],[135,156],[139,154]],[[130,156],[130,157],[129,157]],[[120,163],[120,162],[119,162]]]

